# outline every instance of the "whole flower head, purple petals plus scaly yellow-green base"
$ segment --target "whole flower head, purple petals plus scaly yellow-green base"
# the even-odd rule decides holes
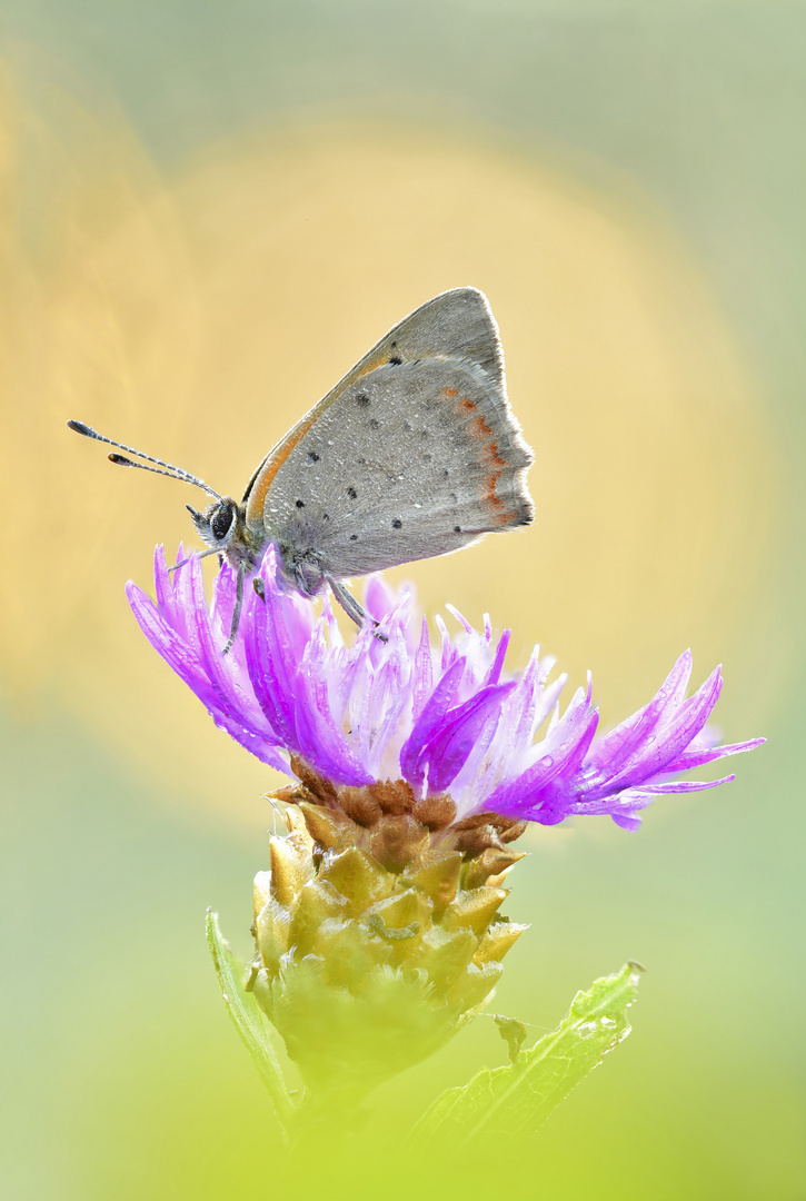
[[[181,549],[180,549],[181,557]],[[288,836],[255,880],[249,987],[314,1092],[360,1095],[446,1042],[491,994],[525,926],[500,913],[513,842],[529,821],[609,813],[622,826],[661,793],[711,788],[681,772],[756,742],[714,747],[718,669],[686,699],[681,655],[652,700],[596,737],[590,677],[565,711],[565,676],[535,650],[507,674],[509,633],[489,619],[436,639],[412,598],[370,580],[365,628],[347,645],[326,603],[286,594],[271,549],[225,657],[235,579],[208,608],[198,558],[173,581],[159,551],[156,600],[129,586],[149,641],[215,723],[295,777]],[[732,777],[728,777],[732,778]],[[721,783],[718,781],[717,783]]]

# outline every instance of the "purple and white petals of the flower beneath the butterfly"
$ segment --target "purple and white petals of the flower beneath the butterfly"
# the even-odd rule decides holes
[[[680,781],[682,772],[764,741],[712,745],[705,727],[722,676],[717,668],[687,699],[689,651],[644,709],[597,737],[590,675],[561,715],[567,677],[549,682],[554,659],[536,647],[519,676],[506,675],[509,632],[496,641],[489,617],[479,632],[448,607],[460,632],[452,638],[437,617],[434,645],[426,621],[412,617],[411,596],[372,578],[366,608],[387,641],[364,629],[347,646],[327,602],[317,616],[310,600],[280,590],[271,548],[261,576],[265,598],[247,590],[226,657],[235,593],[228,567],[208,608],[198,557],[172,580],[159,549],[156,602],[133,584],[127,594],[145,637],[216,725],[288,775],[293,754],[334,785],[402,778],[419,797],[449,793],[460,819],[491,812],[555,825],[608,813],[634,829],[657,795],[734,778]]]

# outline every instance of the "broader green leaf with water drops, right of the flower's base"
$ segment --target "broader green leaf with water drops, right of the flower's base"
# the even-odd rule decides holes
[[[483,1068],[467,1085],[449,1088],[419,1119],[410,1140],[440,1139],[460,1149],[495,1139],[506,1155],[530,1137],[548,1116],[629,1034],[627,1008],[638,996],[638,963],[596,980],[578,992],[566,1018],[533,1047],[503,1068]]]

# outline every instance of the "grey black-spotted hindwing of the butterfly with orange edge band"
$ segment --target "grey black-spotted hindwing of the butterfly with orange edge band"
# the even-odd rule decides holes
[[[497,339],[495,353],[483,351],[491,370],[458,340],[458,353],[392,355],[352,374],[277,466],[263,510],[271,542],[342,579],[531,520],[532,456],[506,401]]]

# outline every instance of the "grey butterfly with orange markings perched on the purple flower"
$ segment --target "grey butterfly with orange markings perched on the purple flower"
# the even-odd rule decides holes
[[[244,582],[269,544],[281,586],[315,597],[327,584],[363,626],[368,615],[344,580],[447,555],[529,525],[535,513],[526,488],[532,450],[507,401],[490,305],[472,287],[442,292],[394,325],[269,452],[240,502],[83,422],[67,425],[145,460],[109,454],[112,462],[213,497],[203,513],[186,508],[203,556],[219,554],[235,572],[225,655]]]

